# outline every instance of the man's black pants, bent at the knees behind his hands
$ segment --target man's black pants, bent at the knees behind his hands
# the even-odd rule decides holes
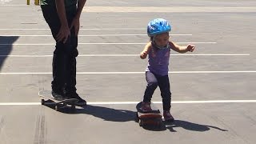
[[[56,41],[56,35],[61,23],[55,6],[41,6],[42,14],[50,26],[51,33]],[[76,6],[66,11],[69,26],[76,14]],[[54,50],[52,69],[52,90],[58,94],[72,94],[76,92],[76,57],[78,56],[78,37],[74,34],[74,28],[70,30],[70,37],[66,43],[57,42]]]

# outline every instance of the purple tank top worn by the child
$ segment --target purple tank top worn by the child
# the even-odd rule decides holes
[[[158,49],[152,46],[148,54],[148,64],[146,71],[158,75],[167,75],[169,71],[170,46],[165,49]]]

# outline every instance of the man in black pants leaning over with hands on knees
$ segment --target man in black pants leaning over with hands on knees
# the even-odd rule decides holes
[[[78,98],[76,92],[76,57],[78,56],[79,19],[86,0],[41,0],[42,14],[56,41],[52,62],[52,96],[55,99]]]

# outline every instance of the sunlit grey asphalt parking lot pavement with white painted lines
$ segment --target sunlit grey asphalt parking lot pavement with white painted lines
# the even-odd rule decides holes
[[[40,6],[0,0],[0,143],[225,143],[256,141],[256,2],[88,0],[78,38],[77,88],[88,102],[72,111],[42,106],[50,90],[54,39]],[[194,44],[170,55],[174,122],[138,126],[146,88],[139,54],[147,23],[165,18],[170,40]],[[153,102],[162,111],[159,89]]]

